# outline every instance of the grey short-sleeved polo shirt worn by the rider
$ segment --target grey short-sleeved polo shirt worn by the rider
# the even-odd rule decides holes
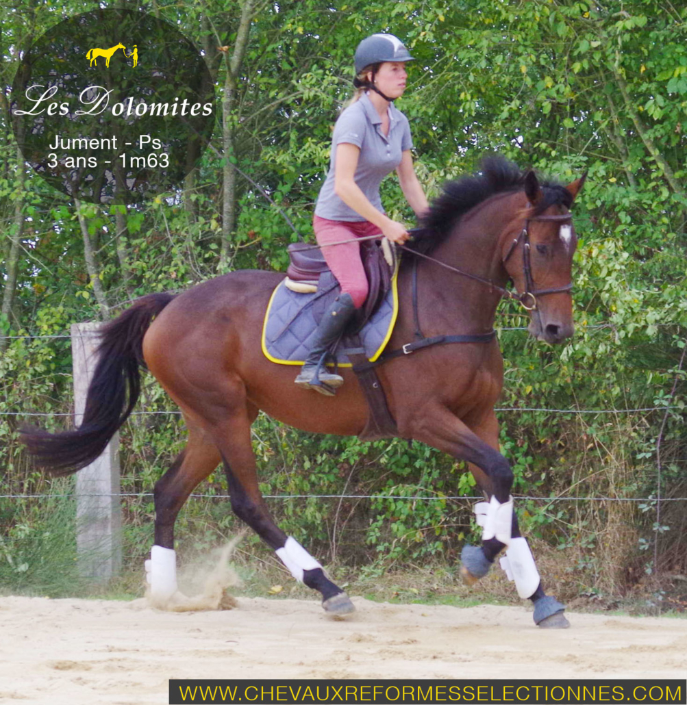
[[[329,159],[329,173],[317,197],[315,215],[320,218],[339,221],[364,221],[365,219],[351,207],[348,207],[334,193],[334,165],[336,147],[342,142],[360,147],[358,166],[353,179],[363,191],[367,200],[382,213],[382,201],[379,198],[379,183],[384,176],[394,171],[401,164],[402,153],[413,148],[411,127],[399,109],[389,104],[389,134],[382,133],[382,118],[363,94],[353,105],[341,113],[334,125],[332,137],[332,156]]]

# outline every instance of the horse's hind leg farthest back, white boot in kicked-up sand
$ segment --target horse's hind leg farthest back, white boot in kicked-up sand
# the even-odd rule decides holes
[[[145,562],[150,596],[164,601],[176,592],[174,522],[179,510],[202,480],[221,460],[217,446],[188,417],[188,443],[154,489],[155,543]]]

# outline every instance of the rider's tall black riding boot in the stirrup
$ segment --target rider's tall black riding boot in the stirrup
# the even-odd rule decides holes
[[[305,359],[305,364],[300,368],[300,374],[294,380],[299,387],[315,389],[325,396],[336,394],[334,390],[343,384],[343,377],[327,372],[324,360],[327,357],[329,345],[339,338],[354,313],[353,299],[348,293],[341,294],[324,312],[320,325],[315,331],[315,340],[312,341],[310,353]]]

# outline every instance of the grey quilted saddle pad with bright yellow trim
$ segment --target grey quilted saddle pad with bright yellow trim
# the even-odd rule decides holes
[[[374,361],[382,355],[394,329],[399,310],[397,277],[398,272],[394,274],[384,301],[359,333],[367,360]],[[296,293],[287,289],[284,281],[279,282],[267,306],[262,327],[262,352],[268,360],[279,364],[303,364],[319,321],[316,298],[317,293]],[[340,365],[350,367],[346,350],[362,353],[363,349],[344,336],[336,350],[336,360]]]

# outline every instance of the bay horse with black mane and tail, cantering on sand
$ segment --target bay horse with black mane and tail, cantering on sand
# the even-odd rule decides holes
[[[530,312],[531,335],[547,343],[572,336],[577,240],[569,208],[585,176],[566,186],[540,183],[533,171],[522,173],[494,157],[482,163],[480,176],[446,185],[423,219],[412,253],[403,255],[399,315],[387,347],[410,352],[407,345],[417,339],[420,326],[425,340],[463,334],[480,341],[446,341],[396,355],[377,368],[397,435],[466,460],[487,498],[475,507],[482,544],[463,548],[464,580],[486,575],[505,548],[501,565],[518,594],[533,602],[540,627],[569,623],[564,606],[545,594],[513,511],[513,473],[499,453],[494,414],[503,361],[493,324],[501,298],[516,297],[505,288],[512,280]],[[270,271],[233,271],[178,295],[140,298],[102,329],[81,426],[58,434],[23,432],[39,465],[52,474],[70,474],[102,453],[133,410],[140,365],[178,404],[188,443],[154,487],[154,546],[146,561],[153,597],[176,591],[176,516],[221,462],[234,513],[276,551],[294,577],[322,594],[327,612],[353,611],[320,563],[275,524],[258,488],[250,427],[259,410],[303,431],[341,436],[360,434],[367,419],[363,392],[350,369],[341,370],[345,384],[331,398],[298,388],[292,367],[262,355],[262,319],[283,278]]]

